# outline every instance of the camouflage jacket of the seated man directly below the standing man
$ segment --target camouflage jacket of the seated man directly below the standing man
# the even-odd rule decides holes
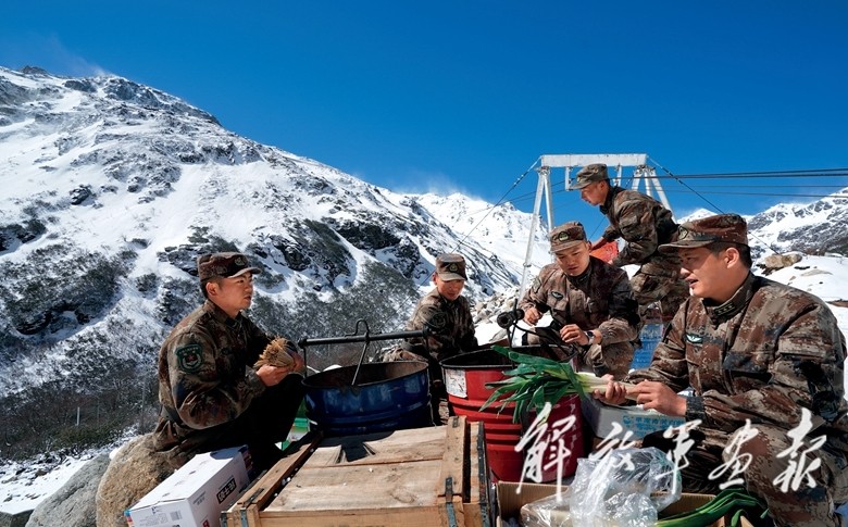
[[[519,306],[550,311],[556,329],[576,324],[600,331],[602,355],[625,352],[633,359],[631,341],[636,339],[639,315],[627,273],[595,256],[579,277],[566,275],[556,263],[546,265]]]

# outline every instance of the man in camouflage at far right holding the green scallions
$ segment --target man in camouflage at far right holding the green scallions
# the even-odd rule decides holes
[[[833,312],[810,293],[751,273],[747,226],[736,214],[685,223],[677,241],[660,250],[679,254],[693,297],[650,366],[625,380],[637,382],[629,392],[646,409],[700,421],[690,431],[683,490],[715,492],[729,476],[716,467],[750,459],[735,477],[766,502],[777,525],[840,525],[834,505],[848,501],[848,404],[845,337]],[[678,394],[689,386],[691,396]],[[624,394],[619,382],[603,397],[596,391],[616,404]],[[746,421],[757,430],[747,441]],[[786,454],[805,422],[801,449],[824,441],[806,461]],[[643,447],[670,451],[673,440],[656,432]],[[800,486],[783,488],[782,478],[805,467],[812,480],[800,470]]]

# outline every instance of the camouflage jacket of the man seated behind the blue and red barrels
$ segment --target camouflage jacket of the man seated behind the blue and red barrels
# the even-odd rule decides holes
[[[425,327],[431,332],[427,339],[429,355],[436,361],[477,348],[471,306],[461,294],[451,302],[433,288],[419,300],[415,312],[407,323],[407,330],[417,331]],[[421,338],[408,339],[403,348],[422,355],[425,353],[424,340]]]

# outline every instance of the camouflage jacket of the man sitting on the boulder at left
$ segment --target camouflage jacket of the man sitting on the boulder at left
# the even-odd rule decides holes
[[[238,417],[265,390],[251,366],[270,340],[208,300],[177,324],[159,351],[157,448],[195,451],[213,427]]]

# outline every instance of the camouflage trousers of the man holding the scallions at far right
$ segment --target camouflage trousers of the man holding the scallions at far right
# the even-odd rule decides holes
[[[793,447],[788,430],[768,425],[751,425],[750,429],[758,434],[747,440],[750,436],[744,428],[733,434],[709,428],[690,430],[688,439],[695,444],[686,453],[688,466],[681,468],[683,491],[716,493],[721,485],[738,481],[729,486],[743,486],[762,499],[777,526],[843,525],[834,511],[848,502],[845,454],[822,448],[803,456],[814,438],[805,438],[806,444],[800,446],[797,455],[787,454]],[[676,442],[654,432],[646,436],[641,446],[672,452]]]

